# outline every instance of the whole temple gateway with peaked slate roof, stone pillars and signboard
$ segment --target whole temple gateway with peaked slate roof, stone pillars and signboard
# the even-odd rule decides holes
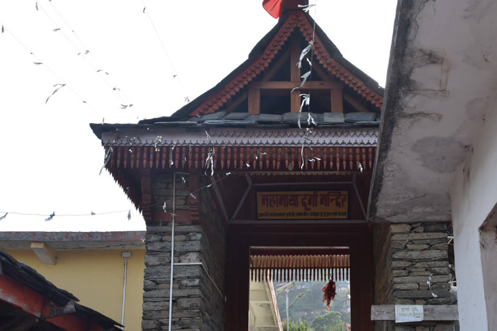
[[[280,330],[251,284],[304,280],[350,282],[353,330],[454,330],[450,219],[368,216],[384,89],[299,4],[171,116],[91,124],[147,224],[143,330]]]

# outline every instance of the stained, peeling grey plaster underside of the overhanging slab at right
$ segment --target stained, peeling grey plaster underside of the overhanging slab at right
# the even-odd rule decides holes
[[[400,0],[369,217],[451,219],[448,192],[497,85],[497,4]]]

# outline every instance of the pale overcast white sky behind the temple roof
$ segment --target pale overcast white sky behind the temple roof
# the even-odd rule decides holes
[[[261,3],[0,0],[0,231],[144,230],[99,175],[88,124],[167,116],[216,85],[277,23]],[[397,1],[310,3],[342,55],[384,86]]]

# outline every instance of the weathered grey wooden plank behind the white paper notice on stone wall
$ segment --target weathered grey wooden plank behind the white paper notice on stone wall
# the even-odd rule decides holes
[[[458,321],[457,305],[425,305],[423,321]],[[372,305],[371,321],[395,321],[395,305]]]

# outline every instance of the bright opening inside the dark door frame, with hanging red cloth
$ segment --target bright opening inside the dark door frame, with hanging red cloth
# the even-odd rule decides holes
[[[348,331],[348,247],[251,247],[250,331]]]

